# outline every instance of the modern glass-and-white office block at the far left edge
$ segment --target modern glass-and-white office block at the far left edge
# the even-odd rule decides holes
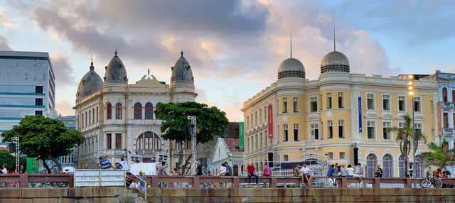
[[[55,75],[48,53],[0,51],[0,133],[26,115],[55,114]]]

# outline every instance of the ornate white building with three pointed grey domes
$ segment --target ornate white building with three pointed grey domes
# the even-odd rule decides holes
[[[77,148],[78,168],[95,168],[101,155],[107,155],[113,163],[120,158],[131,160],[132,156],[154,162],[157,153],[169,155],[170,148],[183,147],[161,138],[161,120],[154,114],[156,104],[195,101],[198,95],[183,52],[171,68],[170,84],[150,73],[128,84],[127,69],[117,51],[105,67],[104,82],[94,68],[92,62],[76,93],[77,129],[85,136],[85,143]]]

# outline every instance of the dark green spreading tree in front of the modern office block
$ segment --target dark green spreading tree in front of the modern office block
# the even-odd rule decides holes
[[[69,155],[73,152],[73,148],[85,140],[80,131],[70,130],[62,121],[41,115],[25,116],[18,125],[5,131],[1,136],[3,141],[11,141],[11,138],[19,137],[21,153],[30,158],[43,160],[48,173],[50,168],[45,160],[52,160],[61,170],[58,157]]]

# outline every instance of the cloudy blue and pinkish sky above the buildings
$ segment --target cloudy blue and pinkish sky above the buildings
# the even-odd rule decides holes
[[[0,50],[48,52],[56,109],[73,115],[77,84],[104,77],[118,50],[130,83],[146,75],[169,82],[183,49],[196,101],[243,121],[243,101],[277,80],[290,55],[318,79],[333,50],[350,72],[389,77],[455,72],[455,1],[23,1],[0,0]]]

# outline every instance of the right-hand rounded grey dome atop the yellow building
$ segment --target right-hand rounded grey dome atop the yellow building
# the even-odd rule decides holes
[[[343,53],[333,51],[321,61],[321,74],[326,72],[349,72],[349,60]]]

